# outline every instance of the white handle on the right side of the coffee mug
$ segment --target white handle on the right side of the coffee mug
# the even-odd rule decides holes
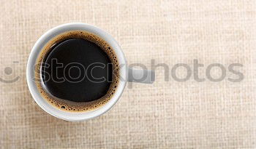
[[[154,71],[128,68],[128,81],[143,84],[153,84],[155,80]]]

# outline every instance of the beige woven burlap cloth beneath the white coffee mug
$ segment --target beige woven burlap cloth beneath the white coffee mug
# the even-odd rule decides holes
[[[254,0],[1,1],[1,79],[19,78],[0,82],[0,148],[256,148],[255,20]],[[245,78],[230,82],[227,71],[217,83],[165,81],[159,67],[154,84],[128,84],[105,115],[62,121],[34,102],[25,70],[39,36],[71,22],[108,31],[128,63],[172,68],[197,59],[204,78],[211,63],[241,63]]]

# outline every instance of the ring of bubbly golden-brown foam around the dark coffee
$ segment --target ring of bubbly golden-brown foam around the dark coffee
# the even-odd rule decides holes
[[[44,84],[41,81],[41,67],[42,62],[46,55],[48,55],[49,52],[51,52],[51,48],[58,43],[61,43],[62,41],[65,41],[67,39],[73,39],[73,38],[80,38],[85,39],[88,41],[93,42],[94,44],[97,44],[107,55],[110,57],[110,61],[113,64],[113,81],[110,84],[110,87],[108,89],[107,94],[105,94],[103,97],[100,97],[97,100],[91,101],[91,102],[73,102],[69,100],[62,100],[56,97],[53,97],[51,94],[48,93],[47,90],[44,89]],[[95,35],[94,33],[89,33],[87,31],[67,31],[64,33],[61,33],[50,41],[48,41],[47,44],[45,44],[45,47],[42,48],[41,52],[39,53],[39,57],[37,57],[37,65],[35,65],[35,79],[37,89],[39,90],[39,93],[42,95],[42,97],[47,100],[50,105],[53,105],[56,108],[59,108],[61,110],[67,110],[71,112],[83,112],[83,111],[89,111],[89,110],[95,110],[102,105],[105,105],[112,97],[113,94],[116,92],[118,82],[119,82],[119,65],[118,60],[116,57],[116,53],[113,51],[113,48],[110,47],[110,45],[101,39],[99,36]]]

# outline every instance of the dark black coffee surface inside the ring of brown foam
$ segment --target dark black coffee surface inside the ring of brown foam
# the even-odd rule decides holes
[[[113,74],[108,55],[85,39],[66,39],[53,46],[42,70],[48,92],[74,102],[90,102],[107,94]]]

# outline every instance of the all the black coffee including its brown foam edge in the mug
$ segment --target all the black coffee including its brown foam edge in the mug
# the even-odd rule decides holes
[[[42,51],[39,89],[57,108],[92,110],[113,96],[118,62],[113,49],[98,36],[70,31],[55,37]]]

